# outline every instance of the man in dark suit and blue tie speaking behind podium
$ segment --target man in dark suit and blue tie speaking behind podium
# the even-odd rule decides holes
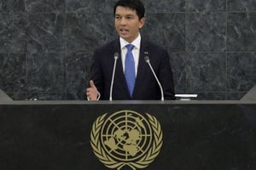
[[[143,3],[140,0],[119,0],[114,5],[113,14],[119,39],[96,49],[91,65],[90,88],[86,89],[87,99],[111,97],[124,100],[153,100],[162,99],[162,94],[164,99],[175,99],[172,68],[167,51],[144,40],[140,35],[139,31],[145,24]],[[128,48],[127,44],[130,44],[131,48]],[[119,54],[116,60],[115,54]],[[149,63],[145,61],[145,57],[150,59]],[[149,64],[152,65],[160,85]],[[127,71],[128,68],[131,71]]]

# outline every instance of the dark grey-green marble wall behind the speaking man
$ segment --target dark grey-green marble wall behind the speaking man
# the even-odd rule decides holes
[[[93,50],[117,37],[114,0],[0,0],[0,88],[83,99]],[[143,0],[142,35],[168,49],[177,93],[240,99],[256,84],[255,0]]]

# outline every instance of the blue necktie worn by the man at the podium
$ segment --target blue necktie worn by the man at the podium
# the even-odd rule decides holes
[[[134,84],[135,84],[135,63],[133,59],[133,55],[131,53],[132,48],[134,45],[128,44],[125,46],[127,48],[127,54],[125,57],[125,79],[127,86],[129,88],[130,96],[132,96]]]

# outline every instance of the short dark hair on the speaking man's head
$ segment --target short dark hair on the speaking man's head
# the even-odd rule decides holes
[[[145,15],[145,8],[140,0],[119,0],[113,7],[113,15],[115,15],[115,10],[118,6],[136,10],[139,20]]]

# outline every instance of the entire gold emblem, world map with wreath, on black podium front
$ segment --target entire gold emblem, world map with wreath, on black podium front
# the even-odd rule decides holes
[[[148,113],[118,111],[97,117],[90,132],[94,154],[106,167],[145,168],[163,144],[160,122]]]

